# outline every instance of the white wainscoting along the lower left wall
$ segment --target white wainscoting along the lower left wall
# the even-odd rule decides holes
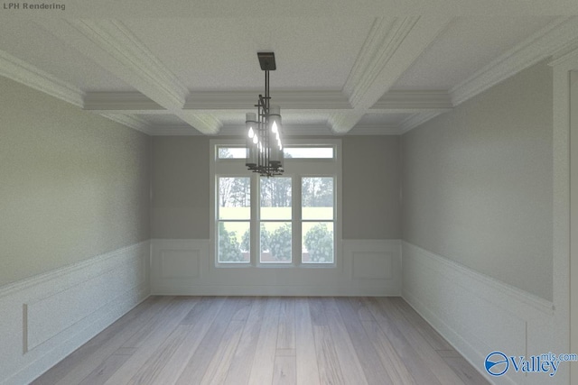
[[[34,380],[150,292],[150,243],[0,288],[0,384]]]

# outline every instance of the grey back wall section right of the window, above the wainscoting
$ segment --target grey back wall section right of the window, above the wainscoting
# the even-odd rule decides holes
[[[399,137],[343,138],[343,238],[399,239]]]

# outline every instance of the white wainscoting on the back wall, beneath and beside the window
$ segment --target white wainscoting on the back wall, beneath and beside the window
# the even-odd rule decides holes
[[[344,240],[335,266],[217,267],[210,240],[151,240],[159,295],[398,296],[399,240]]]

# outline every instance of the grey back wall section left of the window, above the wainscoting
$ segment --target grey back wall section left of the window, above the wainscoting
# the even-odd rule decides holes
[[[209,138],[153,138],[153,238],[209,239]]]

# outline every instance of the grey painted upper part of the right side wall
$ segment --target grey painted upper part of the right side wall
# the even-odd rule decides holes
[[[551,300],[552,105],[539,63],[403,135],[404,241]]]

